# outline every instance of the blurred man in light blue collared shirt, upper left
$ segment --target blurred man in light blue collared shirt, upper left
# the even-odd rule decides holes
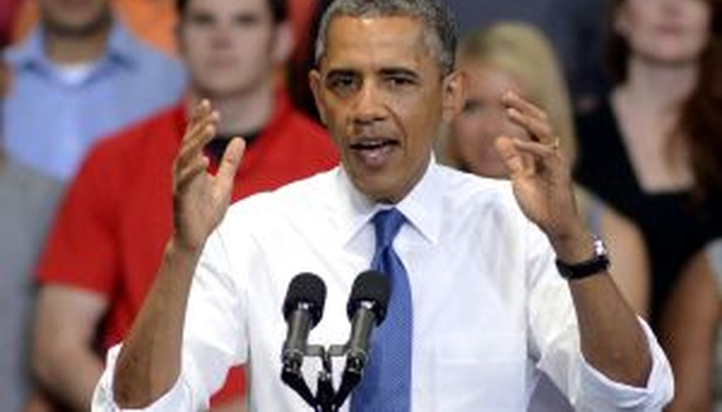
[[[4,144],[66,181],[97,139],[178,101],[186,77],[180,63],[132,38],[108,0],[38,5],[40,25],[5,56],[14,80]]]

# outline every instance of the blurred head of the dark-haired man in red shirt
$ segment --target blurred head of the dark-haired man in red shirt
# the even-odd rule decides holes
[[[179,50],[208,98],[267,87],[290,56],[285,0],[179,0],[177,7]]]

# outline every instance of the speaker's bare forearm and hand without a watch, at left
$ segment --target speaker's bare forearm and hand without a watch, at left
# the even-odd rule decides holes
[[[216,176],[206,172],[202,149],[215,135],[218,114],[196,107],[173,168],[174,233],[160,270],[126,338],[113,379],[121,408],[142,408],[168,392],[181,372],[183,322],[193,272],[209,234],[230,202],[243,141],[228,146]]]

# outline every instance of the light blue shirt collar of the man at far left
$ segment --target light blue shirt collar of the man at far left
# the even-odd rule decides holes
[[[7,59],[10,64],[18,69],[24,69],[29,66],[53,66],[45,53],[43,29],[38,25],[30,32],[30,35],[17,48],[8,51]],[[117,20],[113,22],[110,28],[110,37],[108,38],[108,47],[105,50],[105,56],[102,59],[110,61],[118,61],[121,64],[134,65],[138,62],[140,43],[128,33],[121,22]]]

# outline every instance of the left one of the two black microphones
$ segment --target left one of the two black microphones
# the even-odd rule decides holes
[[[288,330],[281,354],[281,380],[309,405],[316,405],[316,398],[303,379],[301,364],[306,352],[308,332],[321,321],[325,302],[326,284],[313,273],[296,275],[288,286],[283,302],[283,317]]]

